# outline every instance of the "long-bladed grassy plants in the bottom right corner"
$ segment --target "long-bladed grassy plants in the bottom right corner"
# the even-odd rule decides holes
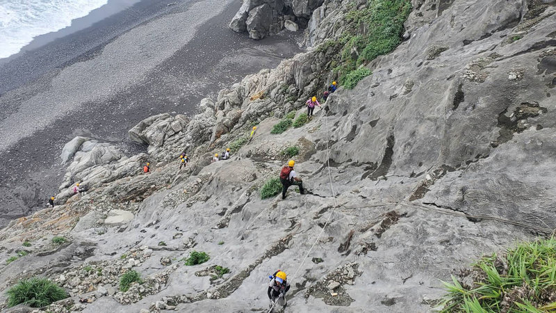
[[[555,312],[556,239],[521,243],[502,255],[482,257],[471,271],[473,287],[452,276],[442,312]]]

